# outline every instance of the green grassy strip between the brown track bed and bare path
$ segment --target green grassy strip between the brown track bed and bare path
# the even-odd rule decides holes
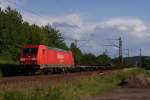
[[[54,85],[36,85],[16,90],[0,90],[0,100],[79,100],[111,90],[125,78],[143,73],[141,69],[126,69],[108,75],[62,81]],[[8,87],[9,88],[9,87]]]

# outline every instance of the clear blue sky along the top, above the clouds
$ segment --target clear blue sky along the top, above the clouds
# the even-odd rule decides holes
[[[27,0],[22,5],[44,15],[82,13],[95,21],[122,16],[149,20],[149,4],[149,0]]]

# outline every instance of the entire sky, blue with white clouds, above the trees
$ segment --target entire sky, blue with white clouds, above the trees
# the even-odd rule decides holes
[[[0,0],[0,7],[17,9],[30,24],[50,24],[61,31],[69,45],[77,39],[84,52],[117,56],[122,37],[126,56],[150,56],[150,0]],[[82,41],[87,40],[87,41]]]

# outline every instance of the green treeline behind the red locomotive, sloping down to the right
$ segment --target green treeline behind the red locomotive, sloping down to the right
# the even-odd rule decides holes
[[[9,7],[6,10],[0,9],[0,59],[6,58],[17,61],[20,48],[26,44],[44,44],[66,50],[71,49],[76,64],[105,65],[111,62],[111,58],[104,54],[95,56],[90,53],[82,53],[74,43],[67,47],[60,31],[49,25],[30,25],[23,21],[18,11]]]

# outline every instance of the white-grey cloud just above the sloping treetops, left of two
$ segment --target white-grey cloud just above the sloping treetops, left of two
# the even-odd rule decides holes
[[[92,31],[92,27],[89,23],[85,23],[83,16],[79,14],[68,14],[64,16],[39,16],[29,12],[23,12],[24,20],[30,24],[47,25],[50,24],[61,30],[66,37],[73,39],[80,39],[87,35],[86,33]]]

